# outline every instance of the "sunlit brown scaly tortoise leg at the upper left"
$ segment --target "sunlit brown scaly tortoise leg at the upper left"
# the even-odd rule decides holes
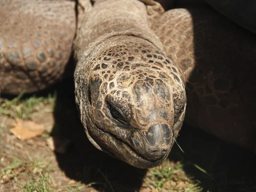
[[[76,32],[75,2],[0,1],[0,93],[42,90],[62,79]]]

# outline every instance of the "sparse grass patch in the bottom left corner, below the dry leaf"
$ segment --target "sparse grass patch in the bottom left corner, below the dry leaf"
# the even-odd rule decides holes
[[[49,167],[49,163],[44,159],[32,160],[30,162],[23,162],[17,157],[12,157],[12,163],[3,168],[1,175],[1,183],[15,182],[20,186],[24,192],[57,192],[57,189],[64,189],[67,192],[79,192],[85,187],[81,182],[70,184],[66,186],[53,186],[50,178],[50,172],[54,169]],[[20,180],[20,175],[29,177],[24,181]],[[93,184],[93,183],[91,183]]]

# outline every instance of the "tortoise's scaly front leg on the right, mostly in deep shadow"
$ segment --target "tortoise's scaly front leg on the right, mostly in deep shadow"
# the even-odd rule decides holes
[[[185,121],[256,151],[256,35],[210,7],[169,10],[152,28],[182,74]]]

